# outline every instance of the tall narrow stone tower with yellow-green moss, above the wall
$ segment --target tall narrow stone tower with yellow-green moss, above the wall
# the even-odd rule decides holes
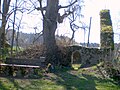
[[[100,44],[101,49],[114,50],[114,33],[110,11],[108,9],[100,11]]]

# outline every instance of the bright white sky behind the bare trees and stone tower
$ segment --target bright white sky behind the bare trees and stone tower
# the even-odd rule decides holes
[[[65,1],[67,0],[60,0],[62,5],[65,5]],[[90,43],[100,43],[100,16],[99,12],[102,9],[109,9],[113,24],[113,31],[115,33],[114,40],[115,43],[120,42],[120,5],[119,0],[84,0],[83,3],[84,7],[82,8],[82,14],[84,18],[81,20],[89,26],[90,17],[91,20],[91,30],[90,30]],[[35,33],[40,32],[42,30],[42,16],[40,12],[34,11],[32,14],[24,13],[21,31],[25,33]],[[37,27],[35,30],[34,27]],[[118,34],[116,34],[118,33]],[[58,35],[65,35],[71,37],[71,30],[69,27],[69,21],[67,19],[64,20],[62,24],[58,24],[58,28],[56,30],[56,34]],[[79,29],[75,33],[74,37],[75,41],[78,43],[84,43],[88,41],[88,30],[84,31],[83,29]]]

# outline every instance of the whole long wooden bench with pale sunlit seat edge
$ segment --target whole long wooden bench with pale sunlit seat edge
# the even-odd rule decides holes
[[[34,69],[45,68],[45,57],[40,59],[18,59],[18,58],[7,58],[5,63],[0,63],[0,74],[12,75],[14,72],[24,70],[24,72],[33,72]],[[4,73],[5,72],[5,73]]]

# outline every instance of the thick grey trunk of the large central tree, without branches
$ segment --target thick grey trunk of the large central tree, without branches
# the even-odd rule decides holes
[[[55,40],[57,28],[58,1],[47,0],[45,17],[43,17],[43,38],[46,47],[46,62],[53,65],[58,64],[58,48]]]

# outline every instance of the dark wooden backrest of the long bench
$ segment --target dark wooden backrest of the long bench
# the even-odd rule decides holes
[[[6,58],[6,64],[17,64],[17,65],[34,65],[41,66],[45,63],[45,57],[40,59],[18,59],[18,58]]]

